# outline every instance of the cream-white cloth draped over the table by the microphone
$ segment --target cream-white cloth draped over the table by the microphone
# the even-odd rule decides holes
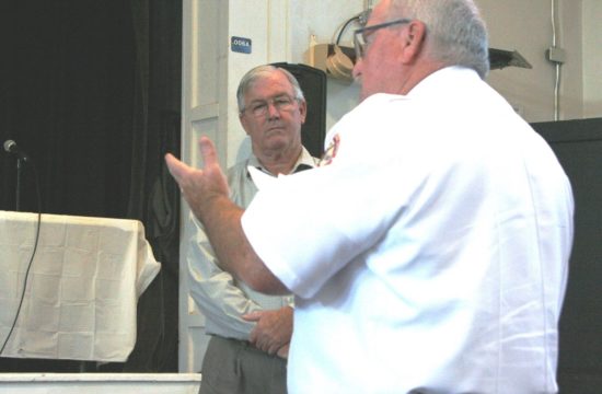
[[[0,211],[0,346],[13,323],[37,213]],[[2,357],[125,361],[138,297],[157,276],[141,222],[42,215],[37,252]]]

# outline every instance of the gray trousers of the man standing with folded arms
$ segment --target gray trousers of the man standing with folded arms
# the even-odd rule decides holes
[[[200,394],[287,393],[287,360],[242,340],[211,336],[200,372]]]

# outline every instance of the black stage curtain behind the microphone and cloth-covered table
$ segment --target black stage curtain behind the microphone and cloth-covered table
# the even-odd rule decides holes
[[[31,158],[19,210],[141,220],[161,271],[138,302],[127,362],[94,370],[177,371],[181,0],[3,0],[0,139]],[[0,210],[15,210],[16,160],[2,152]],[[2,338],[3,339],[3,338]],[[81,362],[0,358],[2,371]]]

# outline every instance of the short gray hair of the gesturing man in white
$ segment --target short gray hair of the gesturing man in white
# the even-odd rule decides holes
[[[391,19],[416,19],[426,24],[431,58],[487,77],[487,28],[472,0],[393,0],[389,13]]]

